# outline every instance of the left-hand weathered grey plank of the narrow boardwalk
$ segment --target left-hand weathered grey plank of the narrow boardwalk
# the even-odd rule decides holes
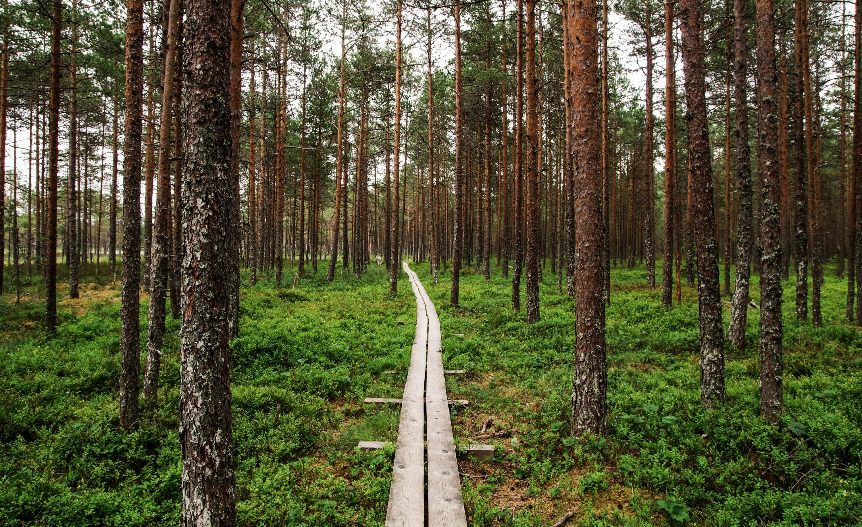
[[[407,268],[407,263],[404,263]],[[425,456],[423,451],[426,348],[428,346],[428,314],[419,289],[413,284],[416,297],[416,332],[410,352],[410,366],[401,405],[401,421],[392,484],[386,509],[388,527],[422,527],[425,516]]]

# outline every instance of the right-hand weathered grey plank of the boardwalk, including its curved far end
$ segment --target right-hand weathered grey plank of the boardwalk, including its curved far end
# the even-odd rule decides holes
[[[440,319],[419,277],[404,263],[404,270],[422,296],[428,316],[428,363],[425,369],[425,413],[428,441],[428,527],[466,527],[461,497],[458,458],[446,394],[446,377],[440,349]],[[411,363],[412,366],[412,363]]]

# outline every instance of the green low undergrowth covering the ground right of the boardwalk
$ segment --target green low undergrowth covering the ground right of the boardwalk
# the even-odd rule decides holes
[[[862,335],[845,323],[846,281],[834,269],[823,288],[821,328],[796,320],[795,286],[784,283],[786,412],[779,426],[759,418],[757,309],[748,310],[746,350],[727,351],[727,403],[706,411],[696,290],[682,288],[682,304],[675,298],[666,309],[660,265],[657,290],[647,287],[642,266],[614,270],[609,434],[575,439],[575,303],[557,293],[550,266],[533,325],[512,312],[510,282],[501,276],[485,282],[474,268],[465,270],[460,307],[452,308],[451,273],[434,285],[427,266],[419,268],[440,313],[444,363],[471,372],[447,380],[451,397],[472,401],[455,418],[456,437],[478,434],[489,417],[498,430],[514,430],[514,439],[490,440],[497,465],[480,471],[487,477],[465,483],[472,525],[542,525],[569,510],[584,525],[862,522]],[[756,277],[752,296],[759,303]],[[727,327],[728,307],[723,311]],[[522,505],[501,493],[507,488],[532,498]]]

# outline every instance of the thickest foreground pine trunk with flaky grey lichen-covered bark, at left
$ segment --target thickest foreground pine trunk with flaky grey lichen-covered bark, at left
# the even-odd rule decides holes
[[[180,525],[236,524],[228,346],[231,109],[230,0],[191,0],[186,67],[181,267]],[[226,256],[228,256],[226,261]]]

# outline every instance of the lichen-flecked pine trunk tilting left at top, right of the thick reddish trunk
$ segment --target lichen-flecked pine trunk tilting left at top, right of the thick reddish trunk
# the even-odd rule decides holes
[[[683,68],[689,125],[689,161],[697,245],[697,300],[700,308],[701,402],[723,403],[724,342],[721,331],[721,293],[718,247],[715,240],[712,167],[709,158],[709,121],[703,74],[703,43],[699,0],[681,0]]]

